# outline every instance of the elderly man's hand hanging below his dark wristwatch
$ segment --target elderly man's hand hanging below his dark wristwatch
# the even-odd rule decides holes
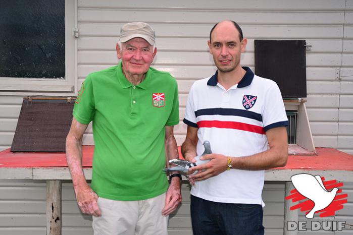
[[[172,213],[181,202],[181,192],[180,192],[181,180],[178,177],[173,177],[170,182],[170,186],[166,193],[165,206],[162,210],[162,215],[167,216]]]

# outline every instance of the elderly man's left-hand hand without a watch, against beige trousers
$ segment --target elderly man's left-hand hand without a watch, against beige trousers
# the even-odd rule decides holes
[[[75,189],[77,204],[80,207],[82,213],[101,216],[97,200],[98,195],[88,186],[82,186]]]

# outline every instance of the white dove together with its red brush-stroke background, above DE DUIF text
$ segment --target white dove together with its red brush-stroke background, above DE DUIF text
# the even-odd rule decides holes
[[[285,199],[298,202],[290,210],[309,211],[307,218],[313,218],[315,213],[320,217],[334,216],[347,203],[347,194],[343,194],[341,189],[342,182],[325,181],[320,175],[306,173],[293,175],[291,181],[295,189]]]

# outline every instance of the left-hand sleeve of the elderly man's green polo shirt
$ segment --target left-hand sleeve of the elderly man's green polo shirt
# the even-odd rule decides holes
[[[81,124],[89,124],[94,116],[94,95],[90,75],[82,82],[73,109],[74,118]]]

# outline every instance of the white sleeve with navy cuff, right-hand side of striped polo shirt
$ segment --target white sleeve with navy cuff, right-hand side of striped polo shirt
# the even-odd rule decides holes
[[[281,91],[275,82],[270,86],[265,97],[262,115],[265,132],[272,128],[288,126],[288,118]]]

